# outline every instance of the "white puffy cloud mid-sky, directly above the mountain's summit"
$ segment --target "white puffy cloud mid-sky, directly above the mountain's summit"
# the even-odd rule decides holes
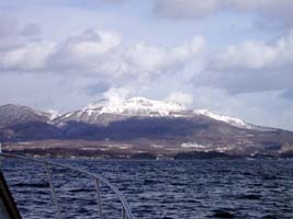
[[[189,60],[200,60],[206,50],[203,36],[194,36],[191,41],[172,47],[159,47],[138,43],[125,54],[125,65],[129,72],[140,72],[140,77],[157,78],[160,74],[177,74],[190,77],[193,71]]]

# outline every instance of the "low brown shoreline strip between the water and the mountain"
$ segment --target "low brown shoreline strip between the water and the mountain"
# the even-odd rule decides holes
[[[293,158],[291,151],[222,151],[214,149],[187,149],[174,145],[139,145],[121,141],[44,140],[5,142],[2,151],[34,158],[94,158],[136,160],[202,160],[202,159],[279,159]]]

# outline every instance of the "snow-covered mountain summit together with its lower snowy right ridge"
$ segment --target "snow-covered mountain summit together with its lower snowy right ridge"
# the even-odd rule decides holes
[[[170,101],[156,101],[145,97],[133,97],[129,100],[109,100],[102,99],[80,111],[65,114],[55,119],[58,124],[66,122],[83,122],[89,124],[108,124],[113,120],[121,120],[132,116],[144,117],[196,117],[204,116],[210,119],[223,122],[238,128],[253,129],[240,118],[217,115],[207,110],[190,111],[184,105]]]

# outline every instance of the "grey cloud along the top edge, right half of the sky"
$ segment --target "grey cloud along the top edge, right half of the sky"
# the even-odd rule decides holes
[[[290,25],[292,8],[291,0],[156,0],[154,10],[167,19],[199,19],[215,12],[255,13]]]

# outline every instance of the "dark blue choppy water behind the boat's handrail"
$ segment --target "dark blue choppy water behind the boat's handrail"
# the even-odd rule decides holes
[[[54,160],[105,176],[128,200],[138,219],[293,218],[291,160]],[[23,218],[55,218],[46,175],[30,162],[4,161],[4,173]],[[54,170],[64,218],[97,218],[94,184],[83,175]],[[105,187],[105,218],[121,206]]]

